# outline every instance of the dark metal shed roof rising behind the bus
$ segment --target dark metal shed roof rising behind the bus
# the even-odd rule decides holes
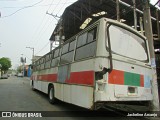
[[[134,15],[133,15],[133,9],[131,8],[133,6],[132,0],[120,0],[120,1],[128,5],[126,6],[122,4],[122,2],[120,2],[120,18],[126,20],[125,24],[133,26]],[[140,11],[143,11],[142,0],[136,0],[136,7]],[[155,14],[156,8],[153,5],[151,5],[150,9],[151,9],[151,16],[153,18],[156,18]],[[97,21],[97,19],[99,19],[100,17],[93,17],[92,14],[101,11],[105,11],[107,12],[107,14],[100,17],[107,17],[116,20],[117,18],[116,0],[78,0],[77,2],[68,6],[62,15],[63,35],[65,36],[66,40],[81,31],[79,27],[88,17],[92,18],[91,23]],[[141,12],[137,12],[137,21],[139,21],[140,17],[143,17],[143,14]],[[157,34],[157,24],[155,20],[152,20],[152,26],[153,26],[153,33]],[[53,33],[56,32],[58,28],[59,26],[57,25]],[[51,35],[50,40],[54,40],[54,34]]]

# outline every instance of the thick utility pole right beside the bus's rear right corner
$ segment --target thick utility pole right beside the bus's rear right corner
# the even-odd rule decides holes
[[[143,2],[144,2],[144,14],[143,15],[144,15],[145,36],[147,37],[148,43],[149,43],[151,66],[153,70],[153,76],[151,80],[153,100],[151,101],[150,107],[152,111],[159,111],[160,109],[159,109],[157,73],[156,73],[156,64],[155,64],[155,53],[154,53],[154,47],[153,47],[153,32],[152,32],[149,0],[144,0]]]

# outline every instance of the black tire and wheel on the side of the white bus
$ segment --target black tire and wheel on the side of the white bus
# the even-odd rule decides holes
[[[51,104],[54,104],[56,101],[56,98],[54,96],[54,87],[53,86],[49,86],[49,90],[48,90],[48,98],[49,98],[49,102]]]

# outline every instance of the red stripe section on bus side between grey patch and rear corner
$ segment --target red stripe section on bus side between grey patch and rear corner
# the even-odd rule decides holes
[[[94,71],[72,72],[66,83],[94,85]]]

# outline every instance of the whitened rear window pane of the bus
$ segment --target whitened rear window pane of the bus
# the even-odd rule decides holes
[[[112,53],[139,61],[147,61],[147,47],[143,38],[115,25],[108,28]]]

